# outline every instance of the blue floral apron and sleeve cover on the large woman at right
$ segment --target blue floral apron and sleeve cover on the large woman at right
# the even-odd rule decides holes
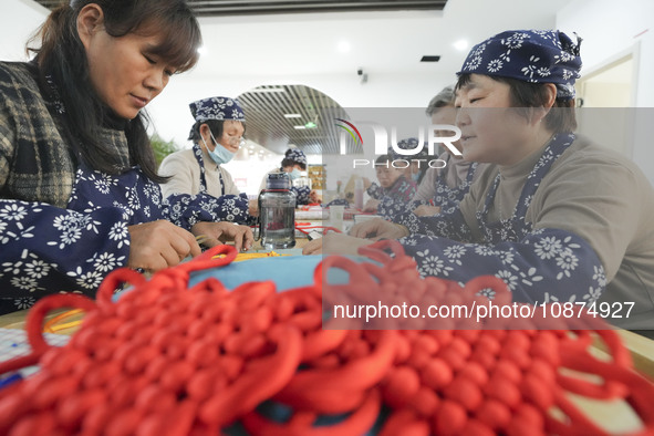
[[[418,263],[421,274],[459,282],[492,274],[507,283],[515,301],[596,301],[606,287],[606,278],[592,247],[572,232],[534,229],[525,221],[540,180],[573,141],[572,134],[556,135],[528,175],[512,216],[500,222],[488,222],[486,217],[499,184],[498,175],[484,209],[477,212],[484,233],[481,241],[473,240],[458,208],[434,217],[408,216],[405,225],[413,235],[401,242]]]

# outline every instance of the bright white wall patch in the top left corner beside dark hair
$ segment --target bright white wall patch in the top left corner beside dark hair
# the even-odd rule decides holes
[[[25,61],[25,42],[48,13],[48,9],[31,0],[0,1],[0,60]]]

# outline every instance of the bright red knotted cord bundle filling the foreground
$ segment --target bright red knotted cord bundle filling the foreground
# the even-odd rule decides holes
[[[349,301],[371,297],[361,288],[393,301],[413,292],[416,301],[463,304],[482,304],[479,291],[492,288],[496,302],[508,301],[495,278],[465,289],[423,280],[388,241],[364,253],[383,267],[329,257],[313,286],[281,293],[272,282],[228,291],[216,279],[188,289],[191,271],[233,260],[233,248],[221,246],[149,281],[117,270],[96,302],[48,297],[28,316],[32,353],[0,364],[0,373],[41,367],[0,391],[0,434],[218,435],[233,423],[252,435],[284,436],[371,428],[381,435],[603,434],[567,392],[624,399],[641,417],[641,434],[654,430],[652,383],[633,371],[615,332],[592,319],[575,321],[574,331],[560,322],[559,330],[539,331],[544,321],[538,316],[519,321],[527,330],[323,329],[322,274],[330,268],[350,279],[325,283],[325,294]],[[122,282],[133,289],[113,302]],[[43,319],[64,307],[86,315],[65,346],[51,347],[41,335]],[[336,321],[324,321],[325,328],[357,325]],[[470,326],[465,319],[448,322]],[[594,330],[579,330],[589,326]],[[598,335],[612,360],[589,353]],[[561,367],[602,381],[564,375]]]

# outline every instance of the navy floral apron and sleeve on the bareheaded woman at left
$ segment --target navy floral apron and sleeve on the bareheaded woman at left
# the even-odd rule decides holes
[[[66,209],[1,199],[0,313],[56,291],[93,297],[127,263],[127,227],[164,218],[159,187],[138,167],[112,176],[82,165]]]

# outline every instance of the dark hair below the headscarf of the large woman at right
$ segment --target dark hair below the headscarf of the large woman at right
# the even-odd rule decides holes
[[[512,107],[521,107],[520,114],[529,120],[533,107],[543,106],[548,94],[543,83],[530,83],[511,77],[487,76],[496,82],[509,85]],[[456,89],[460,89],[470,82],[470,74],[461,74]],[[554,133],[571,133],[577,129],[577,116],[574,114],[574,98],[557,98],[551,110],[544,117],[544,126]]]

